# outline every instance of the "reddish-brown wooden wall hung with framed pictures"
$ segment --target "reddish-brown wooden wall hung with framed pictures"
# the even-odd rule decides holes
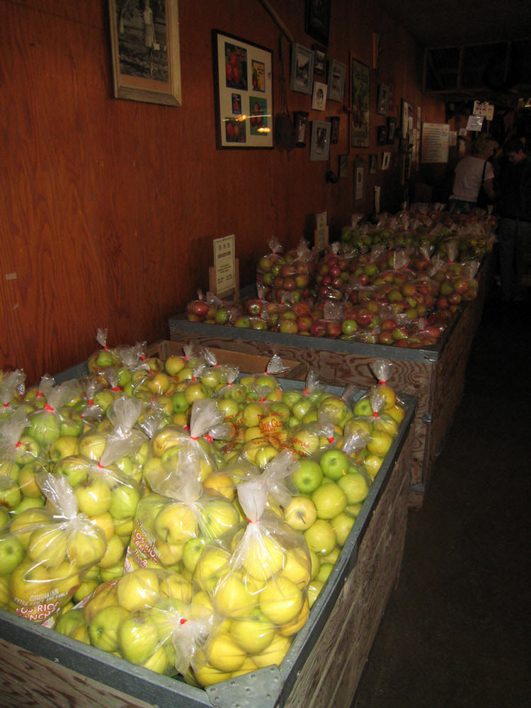
[[[142,2],[142,0],[138,0]],[[296,42],[304,3],[272,0]],[[331,238],[354,211],[356,156],[376,147],[377,86],[393,86],[422,108],[423,120],[444,122],[444,105],[423,98],[421,50],[377,4],[334,0],[327,57],[348,65],[349,53],[370,64],[372,33],[380,36],[378,72],[371,72],[370,149],[348,149],[348,116],[329,102],[290,91],[290,111],[310,120],[341,117],[339,142],[349,176],[326,184],[325,162],[309,147],[289,156],[217,150],[211,30],[238,35],[274,52],[278,91],[278,28],[258,2],[203,0],[179,7],[183,106],[113,98],[108,4],[105,0],[0,0],[0,368],[23,367],[28,384],[85,360],[96,329],[111,346],[168,338],[167,318],[206,289],[212,239],[236,234],[241,285],[278,236],[285,248],[310,238],[316,212],[329,214]],[[289,50],[284,42],[285,74]],[[346,88],[348,96],[348,87]],[[396,110],[395,110],[396,113]],[[382,185],[382,208],[397,204],[397,146]]]

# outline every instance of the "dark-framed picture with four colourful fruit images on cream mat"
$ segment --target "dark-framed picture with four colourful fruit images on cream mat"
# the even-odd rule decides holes
[[[273,148],[273,52],[212,30],[218,148]]]

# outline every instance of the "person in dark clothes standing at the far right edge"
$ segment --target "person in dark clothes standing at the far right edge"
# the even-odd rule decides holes
[[[525,298],[523,275],[531,243],[531,156],[524,142],[511,138],[503,146],[506,166],[500,175],[497,212],[501,297],[504,302]]]

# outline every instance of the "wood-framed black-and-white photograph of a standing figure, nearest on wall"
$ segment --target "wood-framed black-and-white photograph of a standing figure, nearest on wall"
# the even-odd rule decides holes
[[[182,105],[178,0],[109,0],[115,98]]]

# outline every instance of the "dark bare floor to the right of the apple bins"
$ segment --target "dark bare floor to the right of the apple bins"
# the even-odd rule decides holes
[[[496,287],[353,708],[531,705],[531,297]]]

